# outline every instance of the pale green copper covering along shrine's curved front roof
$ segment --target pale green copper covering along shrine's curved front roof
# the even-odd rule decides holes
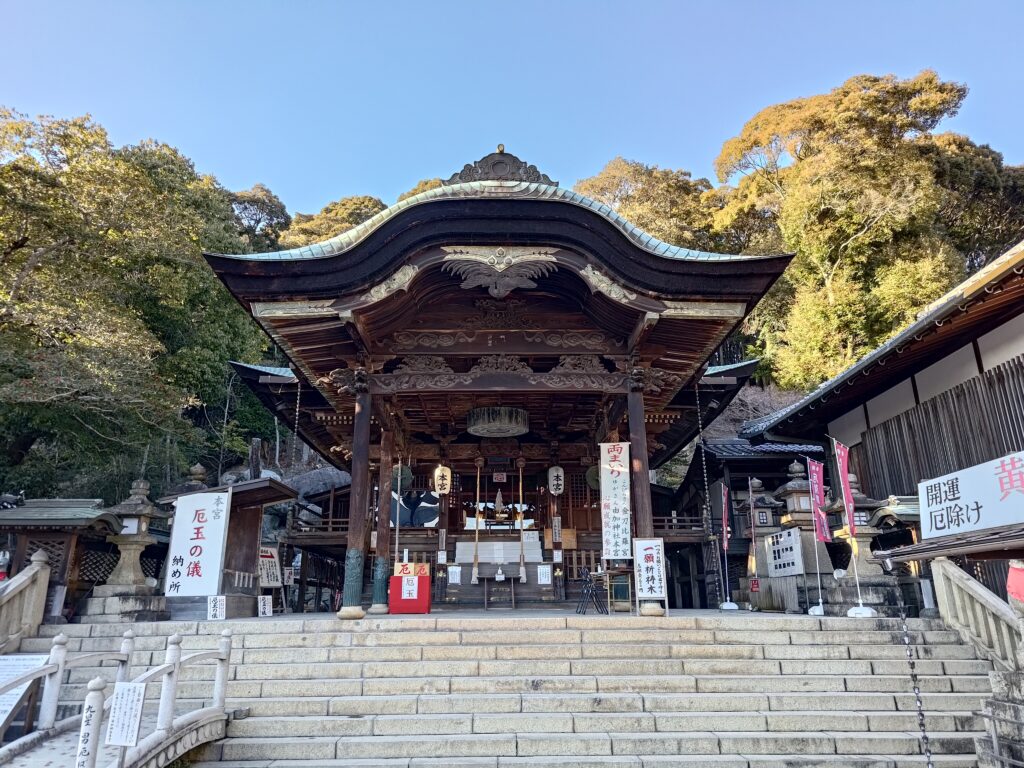
[[[395,203],[361,224],[323,243],[314,243],[302,246],[301,248],[292,248],[271,253],[211,255],[246,261],[299,261],[339,256],[365,241],[383,224],[410,208],[437,200],[460,200],[466,198],[548,200],[584,208],[604,217],[637,247],[647,251],[651,255],[667,259],[684,261],[757,261],[777,258],[779,256],[779,254],[767,256],[731,255],[674,246],[658,240],[652,234],[648,234],[640,227],[630,223],[616,213],[611,206],[605,203],[598,203],[596,200],[591,200],[571,189],[539,182],[504,181],[497,179],[468,181],[428,189],[427,191]]]

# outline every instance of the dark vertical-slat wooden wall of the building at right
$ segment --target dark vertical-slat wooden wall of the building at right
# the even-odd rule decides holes
[[[863,435],[865,494],[916,496],[918,482],[1024,450],[1024,357],[1015,357]]]

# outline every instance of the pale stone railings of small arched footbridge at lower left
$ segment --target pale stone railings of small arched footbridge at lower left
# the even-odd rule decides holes
[[[102,751],[100,739],[103,735],[103,715],[111,706],[111,699],[106,698],[104,694],[110,684],[101,676],[90,680],[87,686],[88,693],[83,705],[83,714],[57,721],[60,684],[67,670],[94,667],[110,660],[118,663],[115,682],[128,682],[128,669],[135,646],[135,635],[131,630],[124,634],[120,652],[84,653],[69,658],[67,644],[67,636],[57,635],[53,638],[50,656],[45,665],[0,685],[0,695],[2,695],[26,683],[43,680],[38,729],[0,749],[0,765],[9,763],[18,755],[40,748],[52,738],[60,736],[68,738],[77,728],[79,732],[75,754],[78,759],[75,766],[76,768],[96,768],[99,754]],[[153,732],[143,736],[133,748],[122,748],[119,758],[110,764],[111,768],[163,768],[201,743],[223,738],[227,720],[224,700],[227,694],[230,654],[230,630],[224,630],[221,633],[216,650],[200,651],[186,656],[181,655],[181,636],[172,635],[168,638],[164,664],[131,680],[133,683],[159,682],[161,684],[160,703]],[[217,663],[217,670],[214,676],[210,706],[175,718],[174,708],[177,701],[178,676],[181,668],[211,660]]]

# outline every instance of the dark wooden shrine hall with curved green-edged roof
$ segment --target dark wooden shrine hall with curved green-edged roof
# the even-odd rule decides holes
[[[435,603],[569,599],[611,565],[602,442],[629,443],[633,536],[703,557],[650,470],[751,375],[709,360],[790,258],[663,243],[502,147],[324,243],[207,254],[291,361],[236,369],[351,473],[286,542],[343,563],[342,617],[387,602],[396,557]]]

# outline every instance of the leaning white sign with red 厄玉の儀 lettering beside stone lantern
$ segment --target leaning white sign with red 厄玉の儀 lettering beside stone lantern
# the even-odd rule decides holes
[[[165,595],[204,597],[220,591],[230,509],[230,488],[223,494],[182,496],[174,502]]]

